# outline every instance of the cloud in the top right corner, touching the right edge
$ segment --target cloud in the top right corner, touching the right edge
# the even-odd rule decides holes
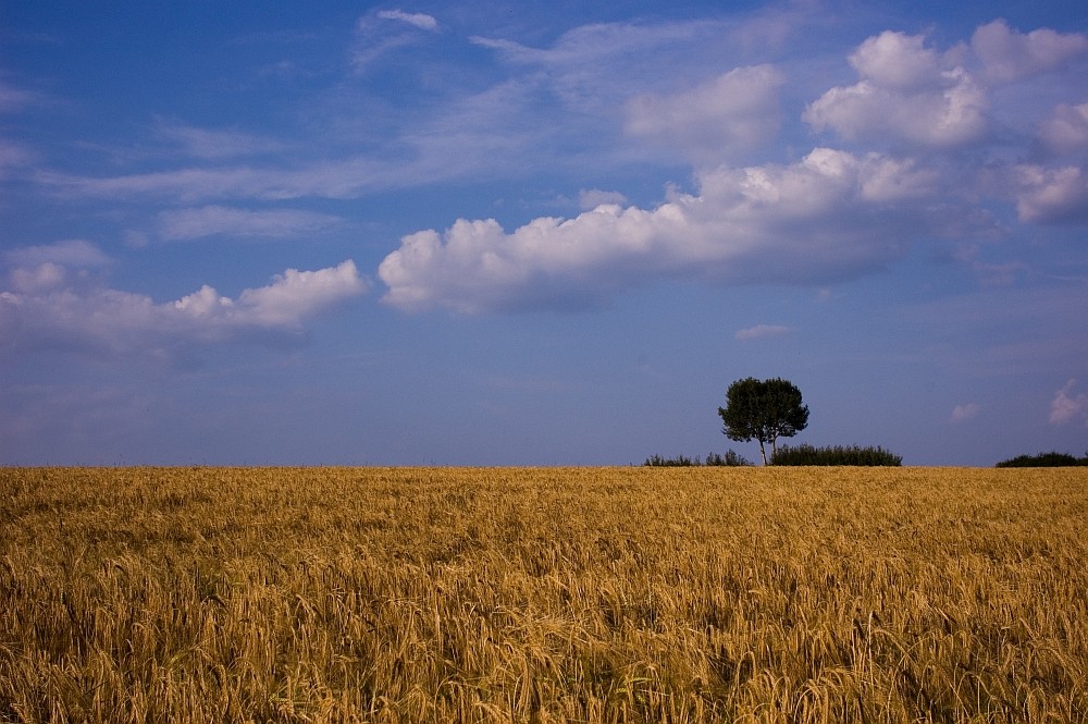
[[[1049,28],[1025,35],[997,20],[975,30],[970,48],[981,61],[987,78],[1007,83],[1060,68],[1088,51],[1088,38]]]

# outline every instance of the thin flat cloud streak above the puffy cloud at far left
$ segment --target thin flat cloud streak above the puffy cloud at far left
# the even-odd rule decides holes
[[[159,235],[166,241],[232,236],[287,237],[312,234],[339,223],[339,219],[312,211],[271,209],[252,211],[224,206],[176,209],[159,213]]]

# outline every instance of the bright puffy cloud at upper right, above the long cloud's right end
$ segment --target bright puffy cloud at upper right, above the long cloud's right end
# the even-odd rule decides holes
[[[850,57],[861,81],[825,93],[804,120],[849,139],[890,136],[932,148],[981,139],[988,131],[985,90],[924,40],[891,30],[869,38]]]

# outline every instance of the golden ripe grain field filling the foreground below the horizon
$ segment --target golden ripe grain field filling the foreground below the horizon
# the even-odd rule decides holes
[[[0,722],[1084,722],[1088,468],[0,468]]]

